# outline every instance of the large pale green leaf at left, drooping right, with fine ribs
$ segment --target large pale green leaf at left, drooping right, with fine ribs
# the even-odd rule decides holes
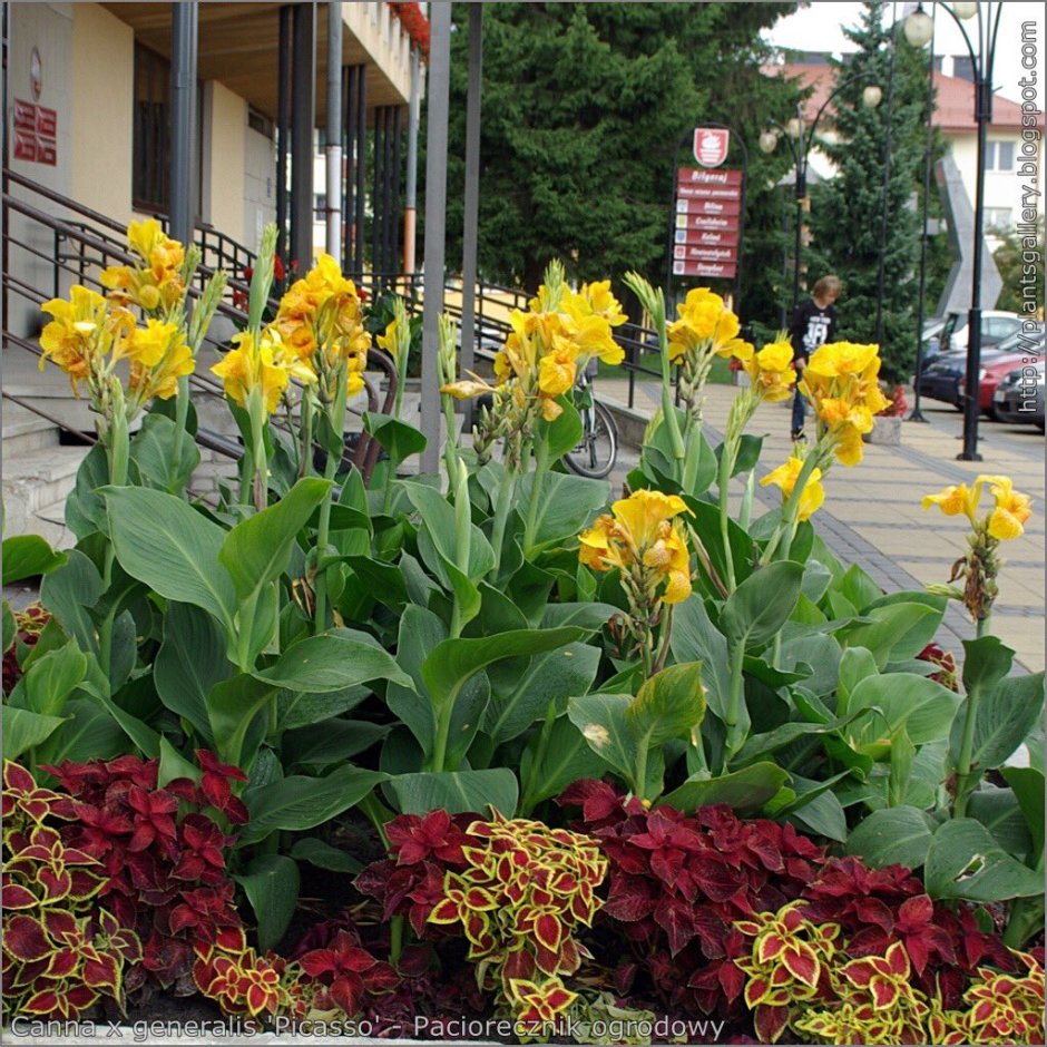
[[[107,488],[117,559],[160,596],[203,607],[233,635],[236,591],[218,554],[226,532],[180,498],[148,488]]]

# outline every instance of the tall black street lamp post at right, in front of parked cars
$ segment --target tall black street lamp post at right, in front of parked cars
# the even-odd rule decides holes
[[[978,129],[977,170],[975,176],[975,249],[972,257],[972,275],[970,292],[970,312],[967,320],[967,388],[963,401],[963,450],[957,456],[960,461],[981,461],[978,453],[978,386],[981,372],[981,263],[984,251],[985,229],[985,187],[986,187],[986,130],[992,119],[992,63],[996,58],[996,41],[999,37],[1000,16],[1004,4],[1000,0],[984,0],[981,3],[942,3],[946,13],[957,23],[967,51],[970,55],[971,71],[975,77],[975,124]],[[975,49],[970,35],[963,22],[972,18],[978,19],[978,49]],[[913,42],[910,35],[910,22],[917,39],[922,37],[926,43],[930,36],[927,22],[930,21],[920,10],[913,11],[907,20],[907,38]],[[919,27],[919,28],[917,28]],[[921,332],[922,334],[922,332]]]

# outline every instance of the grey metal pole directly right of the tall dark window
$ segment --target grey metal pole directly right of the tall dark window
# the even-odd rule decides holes
[[[172,4],[170,36],[170,235],[193,242],[196,151],[196,0]]]

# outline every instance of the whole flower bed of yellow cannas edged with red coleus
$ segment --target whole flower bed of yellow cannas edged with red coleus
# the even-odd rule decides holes
[[[742,341],[703,288],[667,322],[629,277],[664,398],[608,507],[559,460],[578,369],[620,362],[624,315],[554,265],[493,384],[458,374],[441,323],[448,421],[452,398],[491,398],[442,479],[402,476],[425,441],[399,401],[364,414],[385,453],[360,471],[346,403],[369,352],[408,373],[411,322],[384,303],[370,348],[327,257],[264,320],[270,231],[214,366],[239,482],[204,505],[185,375],[223,281],[187,319],[198,260],[155,223],[129,242],[140,264],[102,274],[107,297],[46,306],[45,353],[99,415],[77,547],[4,541],[6,581],[42,576],[38,608],[3,614],[10,1015],[174,996],[248,1031],[1043,1036],[1043,764],[1008,763],[1038,744],[1043,674],[1009,675],[989,632],[1029,501],[1004,477],[929,496],[971,540],[928,591],[883,594],[830,552],[832,470],[860,464],[885,407],[875,346],[812,355],[816,437],[756,517],[745,430],[791,395],[791,349]],[[716,356],[748,384],[714,449]],[[949,600],[977,623],[959,679],[933,645]]]

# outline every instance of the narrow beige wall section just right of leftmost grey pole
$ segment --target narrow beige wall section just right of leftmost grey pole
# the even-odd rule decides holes
[[[247,102],[217,80],[205,84],[204,91],[202,216],[243,243]]]

